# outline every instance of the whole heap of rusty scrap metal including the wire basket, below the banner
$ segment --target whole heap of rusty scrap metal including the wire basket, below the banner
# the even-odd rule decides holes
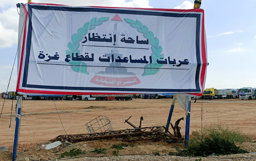
[[[174,135],[171,134],[168,129],[163,126],[152,126],[152,127],[144,127],[141,128],[141,121],[143,117],[140,118],[140,126],[139,128],[133,125],[130,121],[128,121],[131,116],[125,120],[133,129],[125,129],[125,130],[116,130],[114,131],[110,120],[108,117],[99,116],[94,120],[86,123],[86,128],[88,130],[88,134],[75,134],[75,135],[59,135],[50,142],[83,142],[83,141],[91,141],[91,140],[119,140],[125,142],[137,142],[142,140],[177,140],[182,141],[180,127],[178,126],[180,121],[184,118],[180,118],[176,121],[175,126],[171,124],[172,129],[174,130]],[[124,122],[124,123],[125,123]],[[97,132],[100,131],[100,132]],[[164,132],[165,131],[165,132]]]

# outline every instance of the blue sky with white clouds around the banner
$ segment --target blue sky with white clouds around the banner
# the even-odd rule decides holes
[[[135,8],[192,9],[194,0],[32,0],[72,6],[114,6]],[[205,14],[208,62],[205,88],[256,87],[256,1],[202,0]],[[0,3],[0,92],[7,89],[18,46],[16,3]],[[17,60],[8,91],[15,91]]]

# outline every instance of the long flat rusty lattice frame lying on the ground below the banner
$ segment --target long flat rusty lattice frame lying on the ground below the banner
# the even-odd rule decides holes
[[[153,126],[145,128],[134,128],[125,129],[117,131],[106,131],[106,132],[96,132],[89,134],[75,134],[75,135],[59,135],[50,142],[83,142],[91,140],[120,140],[125,142],[137,142],[143,140],[177,140],[181,141],[179,137],[173,136],[168,130],[167,133],[163,132],[167,130],[165,127]]]

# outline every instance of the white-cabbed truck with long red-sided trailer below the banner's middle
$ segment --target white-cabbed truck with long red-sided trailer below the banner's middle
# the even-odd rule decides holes
[[[132,94],[91,94],[91,95],[76,95],[76,100],[116,100],[128,101],[132,100]]]

